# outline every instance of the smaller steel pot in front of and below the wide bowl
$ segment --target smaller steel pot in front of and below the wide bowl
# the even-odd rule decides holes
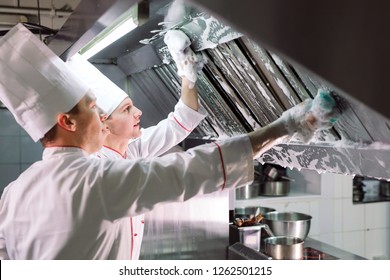
[[[301,260],[303,243],[302,239],[291,236],[268,237],[264,239],[264,252],[275,260]]]

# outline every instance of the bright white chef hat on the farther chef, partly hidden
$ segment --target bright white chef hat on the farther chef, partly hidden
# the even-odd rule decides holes
[[[126,92],[103,75],[102,72],[80,54],[75,54],[66,63],[74,73],[92,88],[96,96],[97,105],[106,114],[111,115],[119,104],[128,97]]]

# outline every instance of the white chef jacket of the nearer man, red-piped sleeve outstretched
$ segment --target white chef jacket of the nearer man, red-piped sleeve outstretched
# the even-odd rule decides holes
[[[246,135],[153,160],[97,159],[79,148],[46,148],[41,161],[4,189],[0,258],[128,259],[123,218],[252,181]]]

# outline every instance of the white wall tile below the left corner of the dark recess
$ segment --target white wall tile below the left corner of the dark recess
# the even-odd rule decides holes
[[[343,231],[365,230],[365,205],[354,205],[350,198],[344,198],[342,202]]]

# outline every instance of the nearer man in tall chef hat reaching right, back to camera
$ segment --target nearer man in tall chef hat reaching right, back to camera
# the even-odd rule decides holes
[[[2,194],[0,259],[129,259],[123,219],[251,183],[253,158],[331,127],[337,111],[322,93],[248,134],[150,160],[97,159],[107,126],[93,90],[21,24],[0,39],[0,60],[1,102],[44,146]]]

